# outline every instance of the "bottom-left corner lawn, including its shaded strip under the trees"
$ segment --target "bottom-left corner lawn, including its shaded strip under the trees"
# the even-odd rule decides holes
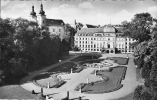
[[[23,89],[19,86],[22,77],[28,74],[24,73],[19,77],[10,77],[5,84],[0,86],[0,99],[38,99],[37,95]]]

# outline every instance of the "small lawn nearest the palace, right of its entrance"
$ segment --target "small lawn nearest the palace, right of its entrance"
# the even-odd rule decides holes
[[[129,62],[128,58],[123,58],[123,57],[107,57],[107,59],[114,60],[116,63],[120,65],[127,65]]]

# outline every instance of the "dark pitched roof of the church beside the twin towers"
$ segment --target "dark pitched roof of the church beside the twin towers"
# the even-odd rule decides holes
[[[46,26],[63,26],[65,25],[61,19],[45,19]]]

